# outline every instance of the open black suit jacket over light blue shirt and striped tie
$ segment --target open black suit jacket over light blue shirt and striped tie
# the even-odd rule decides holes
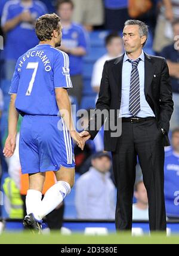
[[[158,127],[166,130],[164,136],[164,146],[168,146],[169,120],[173,112],[172,87],[169,81],[169,71],[166,60],[163,57],[145,56],[145,79],[144,93],[146,100],[156,115]],[[103,76],[101,79],[100,93],[94,109],[94,114],[89,122],[88,130],[91,139],[97,135],[101,125],[97,124],[97,109],[101,111],[115,109],[115,118],[110,117],[109,122],[115,122],[118,118],[118,109],[121,108],[122,92],[122,65],[124,54],[113,60],[108,60],[104,64]],[[130,75],[130,74],[129,74]],[[101,124],[104,123],[104,118]],[[95,126],[94,130],[90,127]],[[104,125],[105,127],[105,125]],[[104,150],[115,151],[118,138],[112,138],[112,130],[104,129]]]

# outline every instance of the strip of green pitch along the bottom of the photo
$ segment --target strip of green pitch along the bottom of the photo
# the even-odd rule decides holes
[[[178,244],[179,236],[166,237],[163,234],[153,236],[131,237],[129,234],[109,234],[108,236],[87,236],[84,234],[61,235],[59,233],[33,235],[29,233],[3,233],[0,235],[2,243],[40,243],[40,244]]]

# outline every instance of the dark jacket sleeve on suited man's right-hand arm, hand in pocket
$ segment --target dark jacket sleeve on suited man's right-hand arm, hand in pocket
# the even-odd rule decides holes
[[[169,78],[169,70],[166,60],[163,58],[161,88],[160,88],[160,117],[159,126],[169,131],[169,120],[174,110],[174,102],[172,100],[172,87]]]

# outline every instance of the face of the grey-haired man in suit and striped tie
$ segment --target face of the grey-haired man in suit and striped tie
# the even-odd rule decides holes
[[[125,26],[123,31],[123,41],[126,53],[134,53],[143,48],[146,36],[140,37],[138,25]]]

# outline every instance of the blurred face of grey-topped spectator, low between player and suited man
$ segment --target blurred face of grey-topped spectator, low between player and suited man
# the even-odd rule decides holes
[[[109,157],[99,157],[97,159],[92,160],[92,166],[99,172],[106,173],[109,172],[111,162]]]

